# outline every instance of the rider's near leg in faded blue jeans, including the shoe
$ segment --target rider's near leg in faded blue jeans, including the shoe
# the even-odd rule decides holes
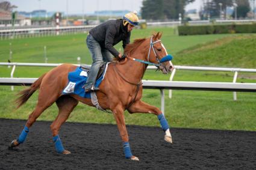
[[[98,90],[98,88],[93,87],[97,74],[99,72],[99,68],[103,63],[102,54],[101,54],[101,45],[92,37],[92,35],[88,35],[86,39],[87,47],[92,55],[92,67],[88,73],[88,77],[86,80],[86,84],[84,85],[84,89],[86,91]]]

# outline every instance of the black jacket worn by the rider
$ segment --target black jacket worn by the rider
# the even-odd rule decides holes
[[[127,31],[127,25],[123,26],[123,20],[108,20],[101,25],[90,30],[90,35],[101,44],[101,47],[109,50],[109,52],[117,57],[119,52],[114,49],[114,45],[123,41],[123,49],[126,44],[130,43],[131,32]]]

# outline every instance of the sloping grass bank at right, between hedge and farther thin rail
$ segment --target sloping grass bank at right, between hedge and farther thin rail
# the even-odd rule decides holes
[[[181,65],[255,68],[256,35],[238,35],[196,46],[180,52],[175,61]]]

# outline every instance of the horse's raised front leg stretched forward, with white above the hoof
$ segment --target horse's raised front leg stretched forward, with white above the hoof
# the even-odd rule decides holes
[[[160,109],[158,109],[155,106],[148,105],[147,103],[142,102],[141,100],[139,100],[139,101],[133,103],[133,105],[130,106],[130,108],[128,109],[128,112],[130,112],[130,114],[133,114],[133,113],[149,113],[149,114],[157,115],[157,118],[160,121],[162,129],[166,133],[166,135],[164,136],[164,140],[166,142],[169,142],[169,143],[172,144],[172,135],[170,135],[169,125],[166,121],[166,118],[164,117],[164,115],[160,111]]]

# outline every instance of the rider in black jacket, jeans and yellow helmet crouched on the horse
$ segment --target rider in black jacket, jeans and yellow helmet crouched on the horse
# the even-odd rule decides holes
[[[84,89],[87,92],[99,90],[95,87],[96,76],[103,62],[112,61],[112,56],[122,57],[113,46],[123,41],[123,49],[130,43],[131,31],[139,24],[136,13],[128,13],[123,19],[108,20],[101,25],[91,29],[86,43],[92,55],[92,67],[88,73]]]

